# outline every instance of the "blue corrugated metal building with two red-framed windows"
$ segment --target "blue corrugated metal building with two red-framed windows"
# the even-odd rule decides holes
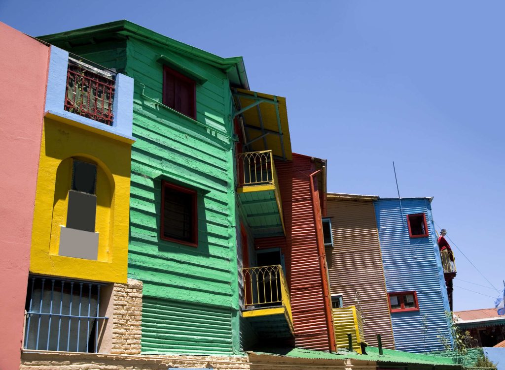
[[[444,349],[452,341],[445,313],[449,301],[431,198],[374,201],[389,297],[395,348],[410,352]]]

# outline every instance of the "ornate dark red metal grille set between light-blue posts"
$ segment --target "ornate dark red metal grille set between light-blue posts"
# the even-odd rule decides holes
[[[115,84],[111,73],[70,58],[65,110],[111,126]]]

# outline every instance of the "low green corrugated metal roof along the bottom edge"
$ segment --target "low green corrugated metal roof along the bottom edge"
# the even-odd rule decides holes
[[[376,347],[367,347],[366,351],[367,354],[359,354],[357,352],[349,352],[346,350],[339,350],[338,353],[329,353],[302,348],[278,348],[278,349],[269,348],[269,352],[254,351],[254,353],[259,355],[262,354],[278,355],[278,356],[280,355],[286,357],[313,358],[313,359],[342,360],[349,358],[362,361],[376,361],[384,364],[387,363],[388,365],[393,365],[393,363],[397,364],[413,363],[413,364],[461,367],[461,365],[453,363],[452,358],[450,357],[440,357],[427,354],[402,352],[385,348],[384,348],[384,354],[379,355],[379,349]]]

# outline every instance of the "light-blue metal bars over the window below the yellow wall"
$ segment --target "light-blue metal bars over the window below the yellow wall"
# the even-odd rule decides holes
[[[30,276],[26,297],[25,349],[98,352],[105,284]]]

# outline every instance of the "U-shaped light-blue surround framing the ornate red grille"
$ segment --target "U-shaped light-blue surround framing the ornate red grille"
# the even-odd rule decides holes
[[[67,51],[56,46],[51,46],[45,113],[51,113],[135,141],[132,136],[133,79],[122,74],[116,76],[116,93],[113,105],[114,121],[112,126],[102,124],[101,122],[65,110],[68,57],[69,53]]]

